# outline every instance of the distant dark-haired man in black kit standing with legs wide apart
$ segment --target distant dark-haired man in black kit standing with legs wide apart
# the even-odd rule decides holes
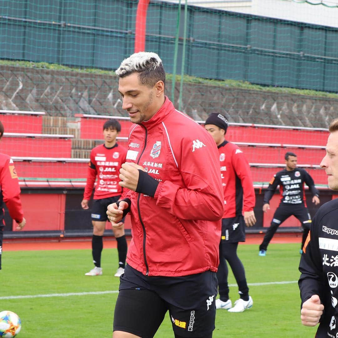
[[[266,250],[277,231],[278,227],[290,216],[294,215],[304,229],[301,248],[310,231],[311,216],[306,207],[304,194],[304,183],[309,187],[313,198],[312,202],[319,204],[319,192],[315,188],[312,177],[301,168],[297,168],[297,156],[292,152],[285,154],[286,168],[277,172],[271,179],[269,186],[264,194],[263,211],[270,209],[269,200],[273,196],[277,186],[281,187],[281,203],[273,214],[271,225],[267,230],[262,244],[259,246],[259,256],[265,256]],[[301,253],[301,249],[300,249]]]

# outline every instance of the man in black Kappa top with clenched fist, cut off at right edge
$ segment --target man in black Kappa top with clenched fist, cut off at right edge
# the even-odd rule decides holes
[[[329,126],[326,155],[320,163],[329,187],[338,190],[338,119]],[[316,337],[338,337],[338,199],[317,211],[299,263],[301,322],[315,326]]]

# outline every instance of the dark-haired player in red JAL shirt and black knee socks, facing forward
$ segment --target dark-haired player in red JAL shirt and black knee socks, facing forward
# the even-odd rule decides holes
[[[117,144],[116,137],[121,131],[121,125],[117,120],[111,119],[103,125],[104,144],[92,149],[87,174],[87,184],[84,188],[81,207],[89,209],[88,202],[93,192],[94,183],[97,183],[94,192],[94,202],[92,206],[92,254],[95,267],[87,272],[86,276],[102,275],[101,252],[103,249],[103,233],[107,221],[108,205],[117,202],[122,194],[122,187],[119,186],[119,170],[126,161],[127,150]],[[124,228],[113,228],[114,236],[117,241],[117,251],[119,255],[119,268],[115,277],[120,277],[124,272],[127,255],[127,241],[124,235]]]

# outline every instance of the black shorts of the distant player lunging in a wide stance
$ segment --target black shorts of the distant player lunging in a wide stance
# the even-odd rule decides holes
[[[311,216],[308,208],[303,203],[296,205],[285,205],[281,203],[273,214],[271,224],[274,223],[279,226],[292,215],[300,221],[304,229],[310,229],[312,222]]]

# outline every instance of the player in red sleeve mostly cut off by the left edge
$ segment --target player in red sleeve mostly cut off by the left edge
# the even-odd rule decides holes
[[[0,140],[3,132],[4,127],[0,121]],[[10,217],[18,224],[16,230],[21,230],[26,224],[26,219],[23,217],[20,192],[19,179],[13,160],[8,155],[0,153],[0,270],[3,229],[5,227],[3,203],[6,204]]]

